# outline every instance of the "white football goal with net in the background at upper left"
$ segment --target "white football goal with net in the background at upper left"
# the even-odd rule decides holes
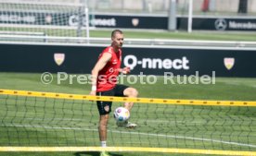
[[[86,42],[84,3],[0,0],[0,42]]]

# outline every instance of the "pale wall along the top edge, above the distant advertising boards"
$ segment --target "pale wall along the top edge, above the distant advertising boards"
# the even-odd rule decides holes
[[[12,1],[12,0],[0,0]],[[82,1],[87,2],[91,8],[104,8],[115,10],[134,10],[134,12],[140,11],[167,11],[169,9],[169,3],[171,0],[15,0],[20,2],[58,2],[58,3],[80,3]],[[187,10],[187,4],[189,0],[176,0],[178,8]],[[215,11],[220,12],[237,12],[239,0],[210,0],[215,1],[213,8]],[[144,6],[146,2],[146,6]],[[193,0],[194,11],[201,11],[203,0]],[[212,10],[214,11],[214,10]],[[248,12],[256,13],[256,0],[248,0]]]

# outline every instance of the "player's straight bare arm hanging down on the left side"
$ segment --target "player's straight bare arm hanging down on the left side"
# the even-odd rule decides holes
[[[111,59],[112,54],[105,53],[100,59],[97,61],[96,66],[92,70],[91,82],[92,82],[92,91],[91,95],[96,95],[96,79],[98,77],[98,72],[103,69],[104,66],[107,65],[109,60]]]

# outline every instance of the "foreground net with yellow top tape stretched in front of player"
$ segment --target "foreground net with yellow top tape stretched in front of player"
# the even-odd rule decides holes
[[[109,147],[236,153],[256,150],[256,102],[129,99],[18,90],[0,90],[0,149],[99,147],[99,114],[91,100],[113,101],[112,112],[123,102],[135,102],[130,118],[138,125],[134,129],[116,126],[110,114]]]

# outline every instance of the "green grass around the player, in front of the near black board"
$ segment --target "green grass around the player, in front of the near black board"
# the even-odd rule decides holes
[[[57,76],[54,75],[54,81],[49,84],[45,85],[41,82],[40,79],[41,74],[30,74],[30,73],[0,73],[0,86],[1,89],[9,89],[9,90],[35,90],[35,91],[50,91],[50,92],[63,92],[63,93],[78,93],[78,94],[88,94],[90,91],[91,86],[89,84],[78,84],[75,80],[73,80],[73,84],[70,84],[69,81],[63,81],[61,84],[57,84]],[[126,81],[124,81],[126,83]],[[237,101],[256,101],[256,97],[254,96],[253,92],[256,92],[256,79],[255,78],[216,78],[216,83],[211,85],[204,85],[204,84],[186,84],[186,85],[178,85],[178,84],[170,84],[170,85],[164,85],[163,78],[158,77],[157,84],[154,85],[142,85],[142,84],[133,84],[134,88],[137,88],[137,90],[140,93],[140,97],[150,97],[150,98],[168,98],[168,99],[201,99],[201,100],[237,100]],[[28,99],[27,99],[28,100]],[[5,101],[3,99],[0,100],[1,104],[4,104]],[[45,108],[42,107],[44,105],[44,100],[37,100],[36,102],[31,99],[28,100],[29,103],[32,104],[32,107],[30,107],[30,104],[27,105],[27,107],[19,107],[19,104],[22,105],[24,103],[24,98],[20,98],[20,101],[13,101],[11,98],[8,100],[9,103],[12,103],[10,106],[8,106],[8,109],[14,109],[18,110],[18,114],[15,114],[17,117],[15,121],[11,121],[11,119],[5,119],[5,122],[13,122],[12,124],[18,123],[22,125],[29,125],[34,124],[37,125],[36,127],[8,127],[8,129],[0,127],[1,134],[5,134],[6,132],[10,132],[12,130],[22,130],[24,132],[23,135],[27,135],[28,137],[34,137],[40,136],[42,140],[40,140],[42,146],[46,146],[47,144],[58,144],[62,145],[66,143],[66,138],[69,138],[69,145],[72,144],[79,144],[80,146],[83,146],[83,144],[89,145],[89,146],[97,146],[97,120],[98,116],[97,114],[83,114],[81,110],[85,109],[84,104],[92,104],[91,102],[83,103],[83,106],[81,105],[81,102],[72,102],[72,104],[66,104],[64,105],[65,110],[56,109],[56,116],[51,116],[51,112],[53,111],[53,106],[56,108],[58,107],[58,104],[61,105],[63,101],[56,101],[51,102],[51,100],[48,100],[47,104],[55,103],[55,105],[47,105]],[[38,107],[36,110],[33,108],[33,104],[36,103]],[[66,101],[65,103],[69,103]],[[42,104],[42,105],[41,105]],[[114,107],[121,105],[120,102],[115,102],[113,104]],[[71,106],[72,105],[72,106]],[[40,107],[41,106],[41,107]],[[63,105],[61,106],[63,107]],[[69,110],[71,110],[71,107],[75,107],[77,109],[74,109],[75,115],[70,114]],[[84,107],[84,108],[83,108]],[[3,107],[2,107],[3,108]],[[248,108],[234,108],[229,109],[227,108],[219,108],[219,107],[201,107],[201,106],[169,106],[168,110],[167,107],[163,105],[155,105],[155,104],[148,104],[147,105],[147,114],[145,114],[145,104],[135,104],[134,110],[141,114],[134,114],[134,119],[137,124],[140,125],[139,128],[135,129],[134,131],[131,131],[132,134],[139,133],[141,134],[141,138],[135,138],[134,135],[126,134],[125,130],[121,130],[122,133],[117,132],[115,130],[115,125],[113,119],[110,120],[109,123],[109,145],[111,143],[120,144],[121,146],[140,146],[139,142],[143,142],[143,145],[147,146],[147,143],[149,146],[156,144],[155,146],[159,146],[159,143],[161,143],[162,147],[170,147],[172,148],[186,148],[186,144],[195,144],[196,149],[207,149],[208,146],[212,146],[211,141],[204,141],[202,143],[201,140],[195,141],[192,139],[173,139],[169,142],[169,145],[166,145],[165,140],[159,138],[154,138],[154,135],[152,138],[148,139],[143,134],[144,132],[150,133],[150,134],[161,134],[159,130],[161,130],[165,135],[168,134],[170,139],[173,137],[183,137],[183,136],[190,136],[193,138],[201,138],[201,134],[204,134],[204,138],[212,138],[216,140],[229,140],[237,142],[237,139],[239,143],[249,143],[252,145],[256,145],[256,141],[253,140],[256,135],[256,131],[250,132],[251,138],[245,138],[244,140],[241,138],[237,138],[237,134],[239,128],[242,128],[244,131],[249,130],[249,128],[255,127],[255,124],[250,123],[251,121],[255,121],[255,112],[256,109],[254,107]],[[191,112],[193,108],[193,111]],[[22,110],[23,109],[23,110]],[[25,110],[26,109],[26,110]],[[34,116],[34,112],[37,113],[38,117],[44,117],[44,114],[40,114],[40,109],[45,109],[45,112],[48,113],[47,118],[49,120],[44,120],[43,123],[40,123],[41,125],[38,126],[38,123],[36,123],[36,120],[30,120],[30,115]],[[167,110],[167,111],[166,111]],[[155,114],[154,112],[163,112],[165,111],[165,114],[175,114],[175,117],[178,117],[182,123],[173,123],[172,121],[178,120],[177,118],[166,118],[165,115],[162,114]],[[222,111],[222,113],[220,113]],[[25,113],[29,112],[29,113]],[[91,112],[96,113],[96,106],[91,106]],[[0,111],[0,114],[3,116],[6,113],[5,109],[2,109]],[[152,114],[152,115],[149,115]],[[9,114],[10,116],[14,114]],[[64,116],[65,115],[65,116]],[[72,116],[70,116],[72,115]],[[193,120],[191,119],[191,115],[194,117]],[[24,116],[27,118],[27,120],[23,120]],[[59,118],[65,117],[65,120],[59,121]],[[231,117],[232,120],[228,122],[228,117]],[[78,118],[79,120],[69,121],[69,118]],[[147,124],[150,124],[151,130],[148,131],[148,126],[146,126],[144,119],[147,118]],[[52,119],[52,120],[51,120]],[[95,123],[95,125],[90,126],[90,128],[94,129],[92,131],[86,131],[87,134],[94,136],[94,138],[90,138],[88,140],[83,140],[83,130],[76,131],[76,134],[68,133],[69,130],[56,130],[56,129],[46,129],[46,131],[52,132],[52,135],[49,135],[51,133],[47,133],[47,138],[45,134],[45,129],[41,126],[62,126],[62,127],[73,127],[73,128],[83,128],[83,126],[86,125],[86,122],[83,122],[83,120],[90,120],[91,123]],[[141,119],[141,120],[140,120]],[[235,123],[234,123],[235,119]],[[156,120],[156,122],[152,122]],[[159,122],[158,122],[159,120]],[[168,120],[168,124],[164,122],[165,120]],[[224,120],[225,122],[223,122]],[[31,123],[31,121],[35,123]],[[150,123],[151,121],[151,123]],[[192,123],[189,123],[191,122]],[[207,121],[207,122],[206,122]],[[3,122],[3,120],[2,120]],[[195,122],[195,126],[193,125],[193,122]],[[236,123],[237,122],[237,123]],[[5,124],[6,124],[5,123]],[[170,125],[171,123],[171,125]],[[189,125],[190,124],[190,125]],[[212,124],[215,125],[215,127],[212,129]],[[226,126],[224,126],[224,124]],[[209,126],[208,126],[209,125]],[[236,126],[233,126],[236,125]],[[160,127],[161,126],[161,127]],[[187,127],[186,127],[187,126]],[[194,128],[191,128],[191,127]],[[152,127],[155,127],[154,129]],[[160,128],[159,128],[160,127]],[[206,129],[206,127],[209,127]],[[13,129],[14,128],[14,129]],[[172,130],[170,130],[172,129]],[[237,132],[231,132],[232,130]],[[26,132],[25,132],[26,131]],[[224,135],[231,133],[234,135],[234,138],[228,137],[228,138],[221,138],[220,134]],[[11,143],[15,143],[15,141],[18,141],[15,136],[17,134],[8,134],[13,136],[14,138],[11,139]],[[19,134],[20,135],[20,134]],[[127,138],[127,141],[123,142],[122,139],[117,139],[120,136],[122,136],[122,139]],[[239,136],[239,135],[238,135]],[[240,134],[240,136],[243,136]],[[254,136],[254,137],[253,137]],[[65,139],[61,139],[62,137],[65,137]],[[131,139],[132,137],[132,139]],[[55,138],[58,138],[56,140]],[[156,140],[157,139],[157,140]],[[118,142],[120,140],[120,142]],[[150,141],[148,141],[150,140]],[[5,144],[6,141],[10,140],[4,140],[3,138],[0,138],[1,144]],[[37,140],[34,140],[37,142]],[[19,140],[19,142],[22,142],[24,144],[32,144],[33,140]],[[138,144],[136,144],[138,143]],[[5,144],[7,146],[7,142]],[[176,147],[176,145],[178,145]],[[226,148],[225,150],[228,150],[229,145],[223,144],[223,143],[213,143],[215,149],[222,149]],[[20,145],[19,145],[20,146]],[[21,145],[22,146],[22,145]],[[191,147],[193,149],[193,147]],[[246,147],[240,147],[237,146],[237,149],[241,150],[248,150]],[[231,149],[234,150],[234,149]],[[236,150],[236,149],[235,149]],[[116,156],[143,156],[143,155],[186,155],[186,154],[161,154],[161,153],[130,153],[130,152],[112,152],[113,155]],[[97,152],[0,152],[0,155],[74,155],[74,156],[83,156],[83,155],[98,155]],[[193,154],[190,154],[193,155]]]

